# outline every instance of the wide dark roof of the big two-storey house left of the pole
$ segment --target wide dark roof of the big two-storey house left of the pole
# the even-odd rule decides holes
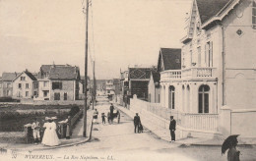
[[[49,72],[49,80],[79,80],[78,67],[52,66]]]

